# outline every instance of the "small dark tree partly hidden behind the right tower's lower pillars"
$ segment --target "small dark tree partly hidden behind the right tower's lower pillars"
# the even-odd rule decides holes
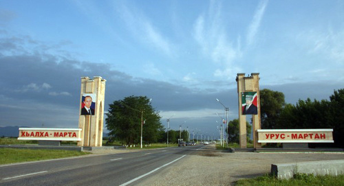
[[[246,121],[246,136],[249,139],[251,135],[252,125]],[[228,122],[228,142],[230,143],[239,143],[239,120],[234,119]]]

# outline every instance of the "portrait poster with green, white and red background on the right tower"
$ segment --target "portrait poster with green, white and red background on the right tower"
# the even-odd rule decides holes
[[[257,92],[241,92],[242,114],[258,114]]]

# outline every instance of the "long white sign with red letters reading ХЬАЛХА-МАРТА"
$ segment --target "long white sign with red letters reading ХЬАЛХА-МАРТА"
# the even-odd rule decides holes
[[[81,141],[81,129],[19,128],[18,140]]]

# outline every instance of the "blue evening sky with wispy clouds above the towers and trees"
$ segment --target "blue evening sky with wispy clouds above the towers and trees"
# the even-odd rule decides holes
[[[344,1],[0,1],[0,127],[78,127],[82,76],[147,96],[171,130],[219,135],[238,73],[286,103],[344,88]],[[216,101],[219,99],[223,105]],[[219,116],[217,116],[217,114]],[[106,123],[105,123],[106,132]]]

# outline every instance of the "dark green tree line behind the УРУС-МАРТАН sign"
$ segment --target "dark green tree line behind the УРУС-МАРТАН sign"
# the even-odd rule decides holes
[[[296,105],[268,89],[260,91],[260,99],[262,129],[333,129],[334,144],[312,145],[344,147],[344,89],[334,90],[330,100],[299,99]]]

